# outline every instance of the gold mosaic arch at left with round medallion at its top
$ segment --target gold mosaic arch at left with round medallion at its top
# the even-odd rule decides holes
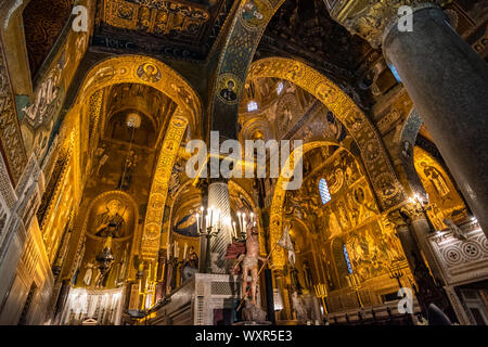
[[[194,137],[202,133],[202,103],[192,86],[168,65],[149,56],[119,55],[98,63],[86,74],[75,103],[66,116],[66,124],[78,121],[82,104],[94,92],[118,83],[150,86],[177,104],[156,159],[142,231],[141,255],[144,260],[154,261],[159,250],[160,228],[171,169],[180,143],[187,133],[187,127],[190,127]]]

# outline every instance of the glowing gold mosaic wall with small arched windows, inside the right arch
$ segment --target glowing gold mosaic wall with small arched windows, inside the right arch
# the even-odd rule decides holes
[[[300,190],[287,193],[284,208],[285,219],[292,222],[300,284],[325,283],[333,310],[358,305],[346,278],[345,245],[350,268],[361,283],[364,305],[380,304],[382,295],[398,290],[388,277],[393,262],[403,268],[404,280],[410,271],[395,230],[380,214],[362,166],[341,147],[313,150],[306,160],[305,167],[312,169]],[[322,178],[332,197],[325,204],[319,194]]]

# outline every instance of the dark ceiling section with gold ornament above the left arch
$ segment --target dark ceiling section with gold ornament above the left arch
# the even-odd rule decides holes
[[[93,44],[203,60],[233,0],[102,0]]]

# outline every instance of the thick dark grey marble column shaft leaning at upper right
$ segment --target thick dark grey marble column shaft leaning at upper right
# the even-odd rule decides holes
[[[412,17],[412,31],[395,22],[384,30],[384,55],[488,235],[487,64],[440,8],[424,5]]]

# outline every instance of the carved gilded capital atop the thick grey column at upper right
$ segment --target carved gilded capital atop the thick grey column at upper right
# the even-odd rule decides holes
[[[413,11],[444,5],[450,0],[328,0],[331,17],[351,34],[365,39],[373,48],[382,44],[384,33],[403,14],[398,14],[402,5]]]

